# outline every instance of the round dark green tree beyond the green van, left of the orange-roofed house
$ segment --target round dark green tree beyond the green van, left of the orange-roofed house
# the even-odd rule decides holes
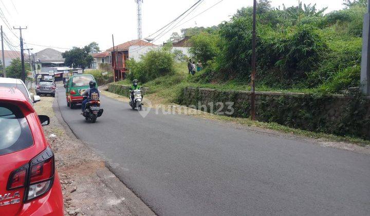
[[[65,64],[69,67],[77,68],[80,67],[82,70],[94,61],[94,58],[89,55],[90,47],[89,45],[84,48],[73,47],[69,51],[62,53],[62,57],[65,59]]]

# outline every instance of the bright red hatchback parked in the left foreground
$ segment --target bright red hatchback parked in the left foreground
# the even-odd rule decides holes
[[[0,87],[0,215],[63,215],[54,154],[21,91]]]

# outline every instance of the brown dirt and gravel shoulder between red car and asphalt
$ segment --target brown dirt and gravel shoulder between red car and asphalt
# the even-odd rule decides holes
[[[50,117],[44,132],[55,154],[65,215],[155,215],[64,122],[60,123],[53,102],[52,97],[42,97],[35,109]]]

